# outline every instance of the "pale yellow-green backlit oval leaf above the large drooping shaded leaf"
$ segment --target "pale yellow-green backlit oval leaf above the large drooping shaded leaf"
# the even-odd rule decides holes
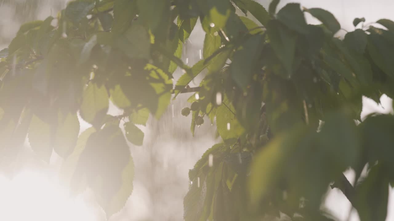
[[[108,106],[109,98],[105,86],[90,82],[82,94],[80,109],[82,119],[95,126],[106,115]]]

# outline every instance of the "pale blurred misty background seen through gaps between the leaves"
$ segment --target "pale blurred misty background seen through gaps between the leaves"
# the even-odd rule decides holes
[[[270,0],[258,0],[260,4],[268,8]],[[353,19],[365,17],[366,22],[374,22],[379,18],[394,20],[394,2],[392,0],[282,0],[278,6],[284,6],[288,2],[300,2],[303,7],[321,7],[333,13],[343,29],[353,31]],[[56,17],[58,11],[63,9],[67,0],[0,0],[0,50],[6,48],[15,37],[19,26],[27,21],[36,19],[43,20],[52,15]],[[319,22],[306,13],[309,23]],[[339,31],[337,36],[343,36],[346,32]],[[200,50],[203,48],[204,32],[199,22],[183,49],[183,60],[192,66],[199,61]],[[177,70],[175,79],[181,76]],[[200,78],[191,83],[196,86]],[[214,138],[215,125],[209,120],[196,128],[195,136],[190,133],[191,115],[183,117],[180,114],[182,108],[189,106],[186,102],[192,93],[180,94],[160,120],[150,118],[147,127],[141,127],[145,133],[143,146],[137,147],[129,143],[135,164],[134,190],[128,199],[126,206],[121,212],[114,215],[111,221],[181,221],[183,220],[183,197],[188,191],[188,170],[193,168],[195,162],[201,157],[206,149],[220,142]],[[362,118],[371,112],[392,112],[392,101],[387,96],[382,96],[381,104],[377,105],[368,98],[363,98]],[[121,110],[111,107],[109,114],[121,114]],[[90,125],[81,120],[81,131]],[[26,153],[22,159],[28,159],[33,155],[26,143]],[[20,160],[23,161],[23,160]],[[53,177],[59,169],[62,160],[53,154],[51,165],[39,162],[24,162],[21,167],[39,168],[48,177]],[[346,176],[352,182],[354,173],[347,171]],[[1,178],[1,177],[0,177]],[[0,179],[0,189],[7,188],[7,181]],[[26,184],[28,185],[28,184]],[[26,188],[21,186],[20,188]],[[31,190],[34,191],[34,190]],[[0,191],[0,193],[2,193]],[[89,205],[90,212],[94,213],[94,221],[105,220],[105,214],[94,204],[89,192],[84,194],[84,202]],[[3,200],[4,201],[4,200]],[[2,202],[0,195],[0,205]],[[349,217],[351,204],[340,190],[330,190],[327,195],[326,205],[336,217],[346,221]],[[394,195],[390,192],[387,221],[394,220]],[[63,212],[66,210],[63,210]],[[20,211],[24,212],[24,211]],[[73,212],[73,211],[67,211]],[[0,219],[1,219],[0,212]],[[61,215],[61,214],[58,214]],[[35,220],[35,217],[31,217]],[[56,219],[56,217],[54,217]],[[90,219],[89,219],[90,220]],[[357,214],[351,213],[351,221],[358,221]]]

